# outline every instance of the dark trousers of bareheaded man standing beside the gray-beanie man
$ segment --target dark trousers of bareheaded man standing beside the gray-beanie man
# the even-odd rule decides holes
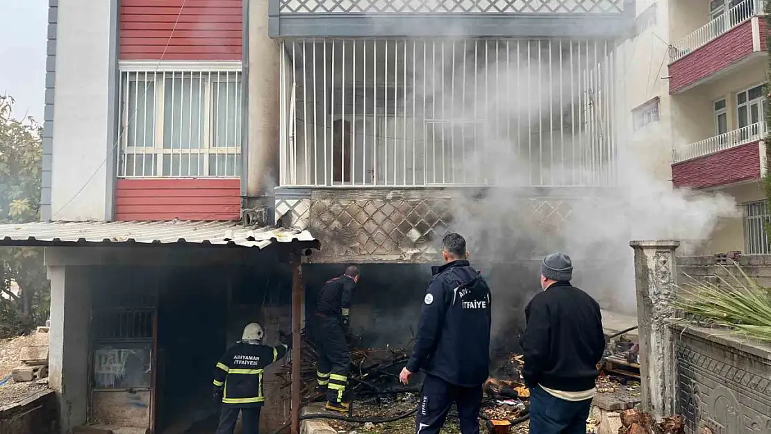
[[[415,418],[415,432],[438,434],[453,404],[458,407],[460,432],[479,434],[482,386],[460,387],[433,375],[426,375],[426,379],[423,380],[418,415]]]

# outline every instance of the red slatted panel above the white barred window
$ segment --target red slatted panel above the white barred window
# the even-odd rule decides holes
[[[120,59],[241,60],[242,18],[242,0],[122,0]]]

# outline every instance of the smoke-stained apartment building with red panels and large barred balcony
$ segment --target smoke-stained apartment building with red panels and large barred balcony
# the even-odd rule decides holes
[[[63,432],[210,415],[210,367],[286,329],[311,247],[425,263],[487,204],[546,253],[614,186],[630,0],[49,4],[44,221],[0,244],[46,249]]]

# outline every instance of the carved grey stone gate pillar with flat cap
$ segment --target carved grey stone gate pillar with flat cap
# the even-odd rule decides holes
[[[675,240],[631,241],[640,336],[642,407],[656,418],[674,414],[675,357],[668,318],[674,316]]]

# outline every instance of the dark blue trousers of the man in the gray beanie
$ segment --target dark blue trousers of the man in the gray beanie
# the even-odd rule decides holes
[[[530,434],[586,434],[591,399],[565,401],[530,388]]]

